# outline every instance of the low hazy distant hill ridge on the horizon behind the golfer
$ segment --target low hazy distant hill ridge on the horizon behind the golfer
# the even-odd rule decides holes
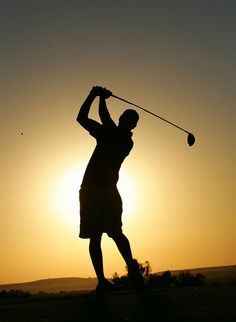
[[[188,271],[193,275],[201,273],[205,276],[206,281],[209,283],[230,283],[236,281],[236,265],[220,266],[220,267],[207,267],[195,268],[187,270],[171,271],[172,274],[179,274],[180,272]],[[0,291],[5,290],[23,290],[30,293],[58,293],[60,291],[85,291],[94,290],[97,284],[96,278],[50,278],[42,279],[28,283],[17,284],[0,284]]]

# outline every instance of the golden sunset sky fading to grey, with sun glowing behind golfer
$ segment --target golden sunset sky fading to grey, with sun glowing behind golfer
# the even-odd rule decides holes
[[[95,275],[78,238],[95,141],[75,121],[93,85],[196,136],[140,111],[120,174],[134,256],[153,271],[236,264],[234,0],[1,0],[0,41],[0,283]],[[107,104],[115,121],[129,107]],[[103,248],[107,276],[124,273]]]

